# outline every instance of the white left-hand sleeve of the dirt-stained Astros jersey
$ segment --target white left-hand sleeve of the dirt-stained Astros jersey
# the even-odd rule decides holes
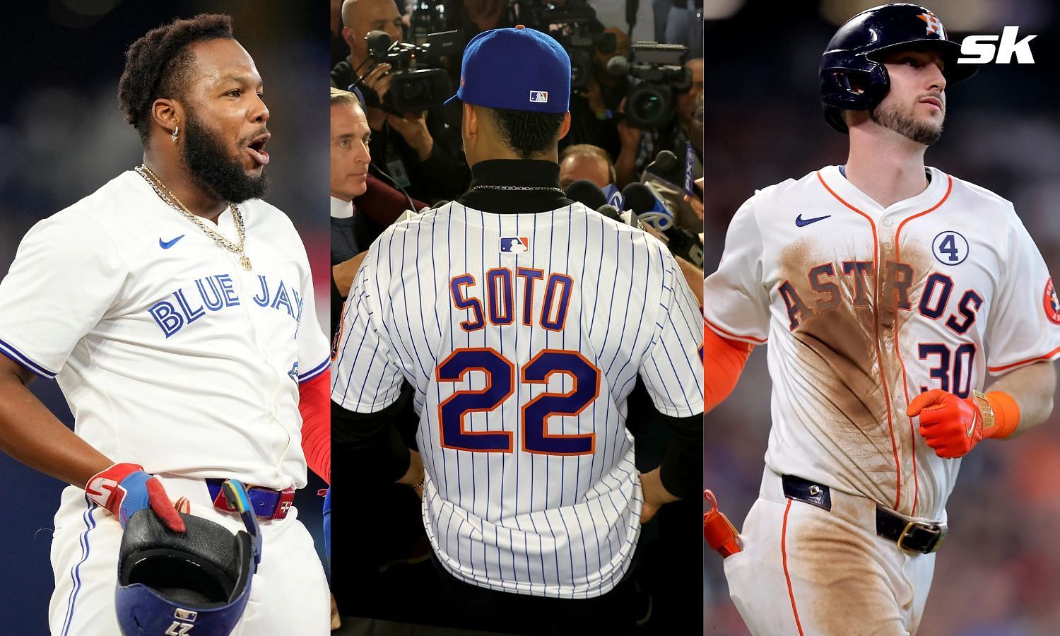
[[[770,333],[770,297],[762,285],[762,233],[754,197],[732,217],[718,271],[704,282],[703,316],[718,335],[761,344]]]

